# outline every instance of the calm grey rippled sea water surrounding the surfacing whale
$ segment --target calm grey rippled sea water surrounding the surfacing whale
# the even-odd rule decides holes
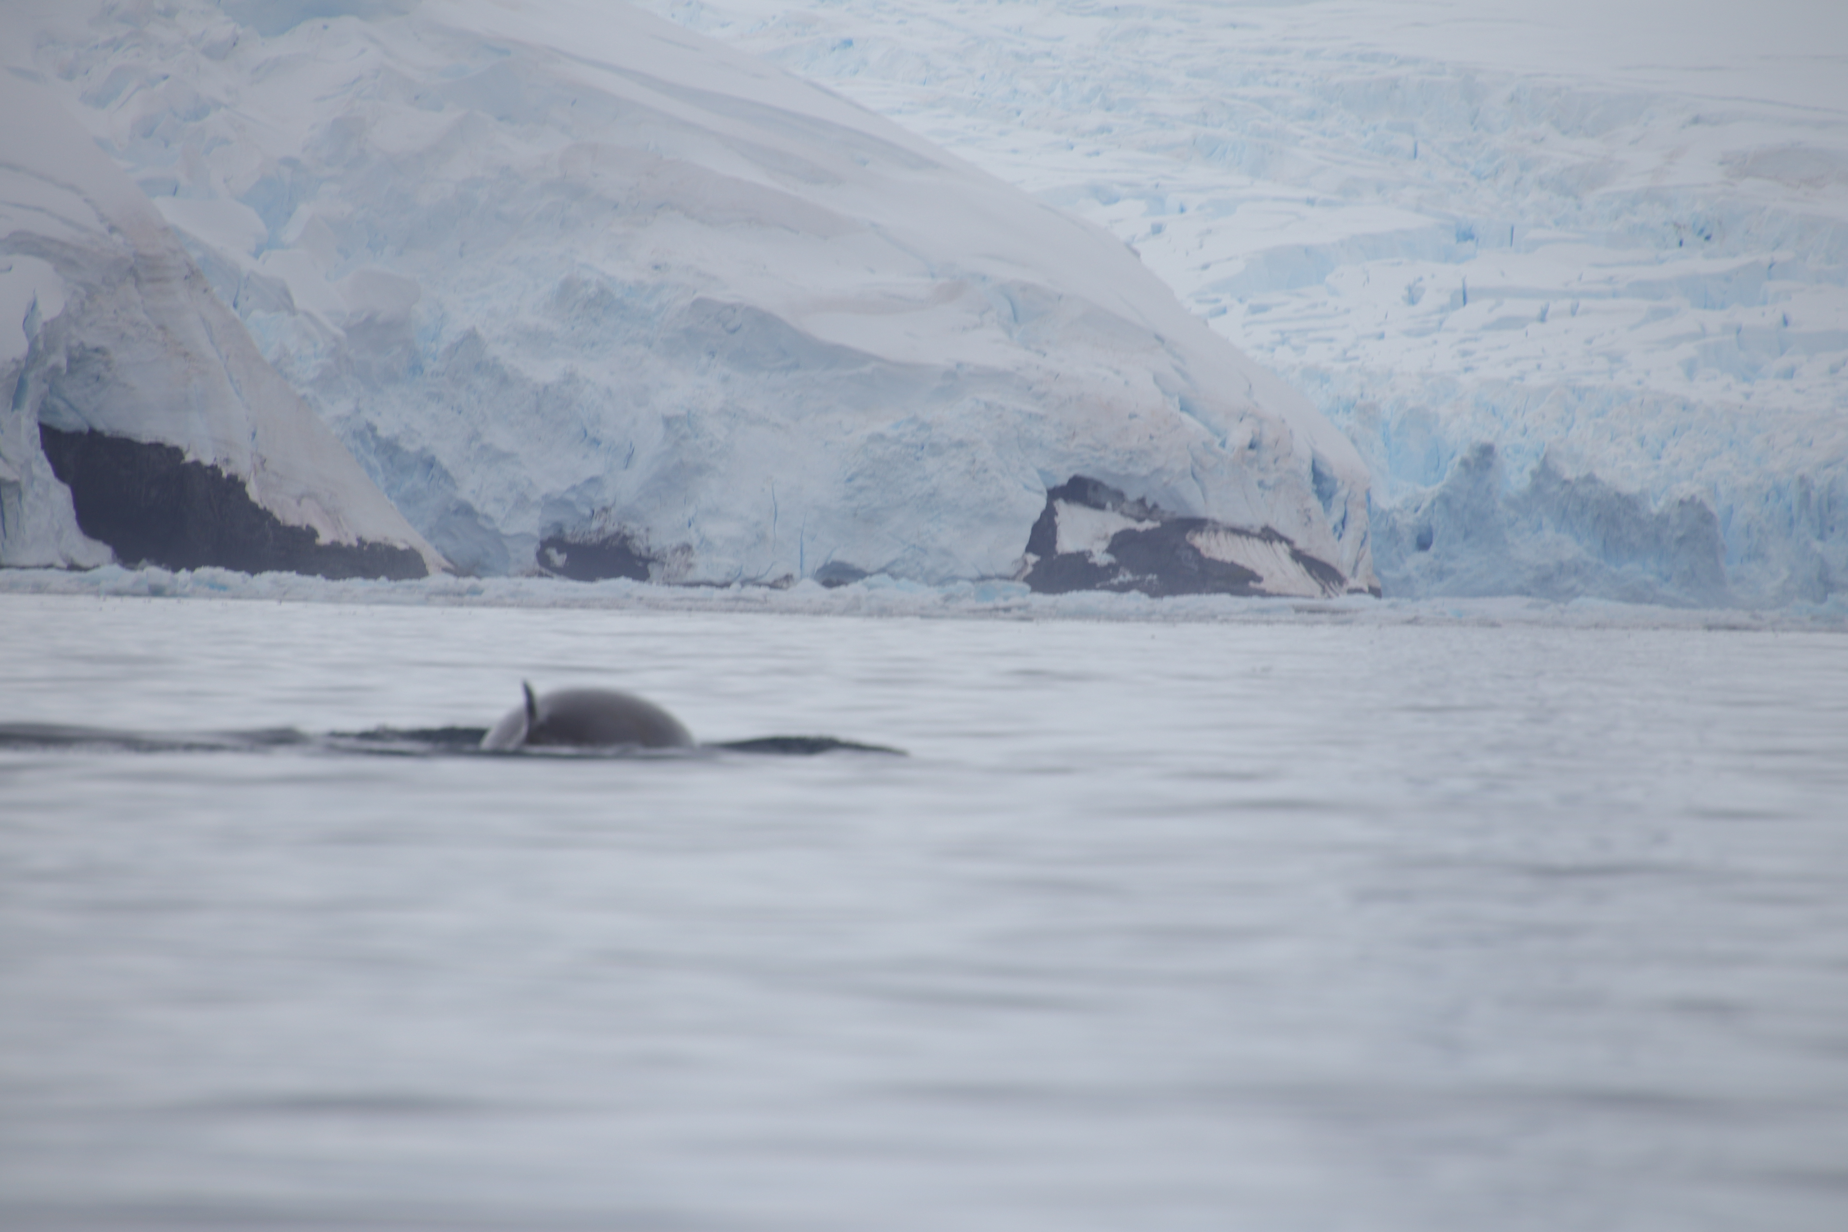
[[[0,1226],[1848,1226],[1848,635],[0,595]]]

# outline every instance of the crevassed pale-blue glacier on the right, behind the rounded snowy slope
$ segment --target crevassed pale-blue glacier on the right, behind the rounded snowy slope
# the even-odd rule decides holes
[[[1137,246],[1390,595],[1848,587],[1848,6],[643,0]]]

